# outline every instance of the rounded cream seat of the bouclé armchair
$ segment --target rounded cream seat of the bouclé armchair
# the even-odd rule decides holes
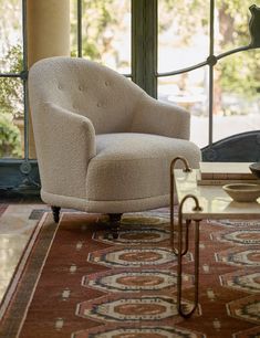
[[[200,150],[188,140],[137,133],[97,135],[86,198],[127,201],[169,194],[169,166],[179,155],[198,167]]]

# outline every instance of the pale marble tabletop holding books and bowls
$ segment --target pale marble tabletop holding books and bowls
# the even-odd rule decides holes
[[[256,202],[235,202],[221,186],[198,186],[198,170],[184,172],[175,169],[175,187],[180,202],[187,194],[198,198],[201,211],[194,211],[194,199],[187,199],[183,207],[184,219],[259,219],[260,220],[260,198]],[[259,222],[260,226],[260,222]]]

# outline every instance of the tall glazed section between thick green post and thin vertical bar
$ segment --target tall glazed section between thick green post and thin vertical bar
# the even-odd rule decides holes
[[[158,0],[158,73],[204,62],[208,54],[209,1]],[[160,77],[158,99],[188,109],[190,139],[208,145],[208,66]]]

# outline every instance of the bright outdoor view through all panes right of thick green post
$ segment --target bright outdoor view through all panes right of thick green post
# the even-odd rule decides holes
[[[249,7],[259,0],[215,1],[215,55],[250,43]],[[209,55],[209,4],[204,0],[158,0],[158,72],[201,63]],[[173,19],[174,18],[174,19]],[[260,129],[260,52],[221,59],[214,67],[212,141]],[[209,144],[209,66],[158,78],[158,98],[191,115],[191,140]]]

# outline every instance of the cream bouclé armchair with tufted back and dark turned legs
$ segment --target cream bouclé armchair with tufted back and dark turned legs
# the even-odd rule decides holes
[[[41,197],[60,208],[107,213],[169,204],[169,166],[177,156],[197,168],[190,116],[160,103],[98,63],[50,57],[29,72]]]

